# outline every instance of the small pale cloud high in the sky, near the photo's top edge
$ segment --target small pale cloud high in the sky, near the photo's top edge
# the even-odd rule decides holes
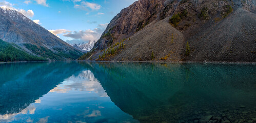
[[[80,5],[78,4],[74,5],[74,8],[79,8],[86,11],[88,11],[88,8],[90,8],[91,10],[99,10],[101,9],[101,5],[89,3],[89,2],[81,2]]]

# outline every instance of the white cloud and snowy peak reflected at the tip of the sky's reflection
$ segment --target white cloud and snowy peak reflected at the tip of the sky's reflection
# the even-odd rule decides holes
[[[108,97],[107,93],[95,79],[94,74],[90,70],[83,71],[77,76],[72,75],[65,79],[62,84],[53,88],[50,92],[68,93],[71,90],[78,91],[93,91],[101,97]]]

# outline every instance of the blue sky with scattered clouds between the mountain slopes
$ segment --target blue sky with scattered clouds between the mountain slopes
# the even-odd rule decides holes
[[[110,20],[136,0],[0,0],[68,43],[97,40]]]

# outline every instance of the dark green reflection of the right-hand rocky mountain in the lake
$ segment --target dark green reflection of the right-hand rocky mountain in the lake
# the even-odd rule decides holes
[[[234,122],[256,116],[253,65],[80,64],[93,72],[116,106],[141,122]]]

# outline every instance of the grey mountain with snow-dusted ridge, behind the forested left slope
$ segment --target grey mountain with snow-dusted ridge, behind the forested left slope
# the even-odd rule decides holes
[[[73,60],[83,53],[68,45],[23,14],[0,8],[0,39],[27,53],[50,60]]]

